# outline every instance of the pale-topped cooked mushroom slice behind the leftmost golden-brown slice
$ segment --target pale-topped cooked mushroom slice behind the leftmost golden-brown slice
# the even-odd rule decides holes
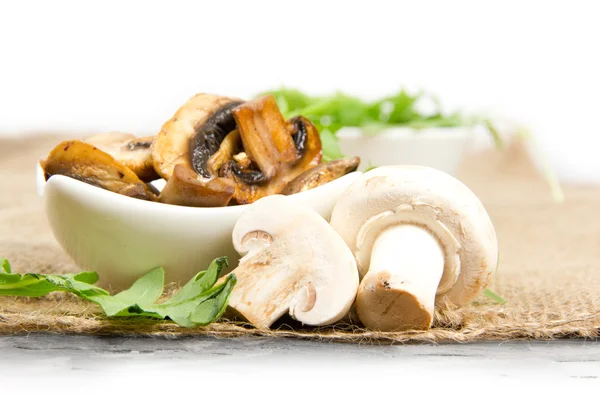
[[[98,147],[131,169],[144,182],[158,178],[152,166],[150,147],[154,136],[135,137],[130,133],[109,132],[88,137],[83,141]]]

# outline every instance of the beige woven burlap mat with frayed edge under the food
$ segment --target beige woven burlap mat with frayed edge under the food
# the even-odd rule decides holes
[[[77,267],[54,241],[35,194],[34,164],[56,138],[0,141],[0,256],[17,272]],[[0,297],[0,334],[52,332],[178,337],[264,335],[354,342],[475,341],[598,337],[600,333],[600,188],[566,187],[556,204],[518,144],[471,155],[459,177],[486,205],[498,232],[500,267],[490,285],[507,303],[485,297],[437,314],[427,332],[370,332],[352,324],[258,331],[224,321],[183,329],[153,320],[110,320],[90,303],[55,294]]]

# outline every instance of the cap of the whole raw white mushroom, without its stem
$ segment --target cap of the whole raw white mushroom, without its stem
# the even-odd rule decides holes
[[[494,226],[477,196],[444,172],[409,165],[373,169],[346,190],[331,216],[361,276],[379,233],[401,224],[427,229],[444,250],[436,305],[468,304],[487,286],[498,265]]]

